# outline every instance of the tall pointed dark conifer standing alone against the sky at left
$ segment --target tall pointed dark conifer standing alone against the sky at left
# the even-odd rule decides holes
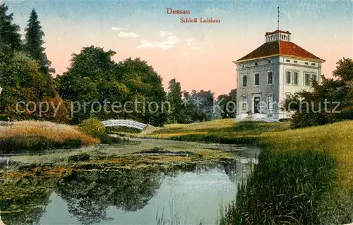
[[[28,26],[25,28],[25,49],[32,59],[38,61],[40,71],[46,74],[54,73],[54,69],[50,68],[52,62],[47,59],[47,54],[44,52],[43,44],[45,42],[43,37],[42,26],[38,20],[37,12],[33,8],[28,20]]]

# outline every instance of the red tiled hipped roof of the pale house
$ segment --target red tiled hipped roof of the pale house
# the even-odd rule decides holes
[[[241,59],[238,59],[237,61],[257,59],[275,55],[293,56],[297,58],[316,59],[322,61],[322,59],[318,58],[318,56],[311,54],[309,51],[299,47],[297,44],[284,41],[266,42],[257,49],[251,51],[251,53],[247,54]]]

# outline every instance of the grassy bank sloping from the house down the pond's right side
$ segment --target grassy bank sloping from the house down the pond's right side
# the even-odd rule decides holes
[[[167,126],[145,137],[263,148],[256,172],[223,224],[352,222],[353,121],[297,130],[288,125],[220,120]]]

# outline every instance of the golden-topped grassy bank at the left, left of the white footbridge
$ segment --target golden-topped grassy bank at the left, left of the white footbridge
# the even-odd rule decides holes
[[[99,143],[97,138],[73,126],[57,123],[20,121],[0,127],[0,152],[41,151]]]

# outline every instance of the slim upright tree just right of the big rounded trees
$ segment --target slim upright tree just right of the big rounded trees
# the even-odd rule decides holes
[[[180,83],[175,79],[169,81],[167,100],[171,106],[171,114],[173,123],[180,123],[180,111],[181,111],[181,86]]]

